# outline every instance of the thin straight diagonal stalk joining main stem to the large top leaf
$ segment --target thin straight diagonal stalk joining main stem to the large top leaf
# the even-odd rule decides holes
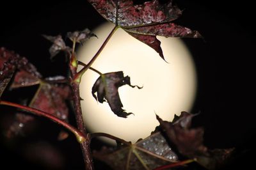
[[[100,49],[96,52],[96,54],[93,56],[93,58],[91,59],[91,61],[84,66],[84,68],[82,70],[80,70],[77,74],[76,77],[74,78],[74,81],[80,82],[81,81],[81,77],[82,75],[86,72],[86,70],[88,70],[93,62],[98,58],[100,52],[102,52],[102,50],[104,49],[104,47],[107,45],[108,41],[110,40],[110,38],[114,35],[115,31],[118,29],[119,26],[115,26],[111,33],[109,33],[108,37],[106,38],[106,40],[104,41],[104,43],[102,43]]]

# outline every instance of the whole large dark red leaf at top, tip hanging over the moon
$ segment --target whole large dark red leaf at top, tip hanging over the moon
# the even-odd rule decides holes
[[[146,43],[164,59],[161,42],[156,36],[202,37],[198,31],[171,23],[181,15],[172,0],[160,4],[158,0],[133,4],[132,0],[88,0],[110,22],[122,27],[134,38]]]

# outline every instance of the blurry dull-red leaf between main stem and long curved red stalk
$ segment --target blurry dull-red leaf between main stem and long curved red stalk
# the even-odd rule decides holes
[[[42,82],[29,106],[68,121],[66,100],[70,98],[70,93],[67,85]]]

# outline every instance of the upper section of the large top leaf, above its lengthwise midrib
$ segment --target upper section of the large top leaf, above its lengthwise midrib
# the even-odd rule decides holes
[[[181,15],[181,11],[173,6],[172,1],[159,4],[159,1],[154,0],[135,5],[132,0],[88,1],[102,17],[124,28],[171,22]]]

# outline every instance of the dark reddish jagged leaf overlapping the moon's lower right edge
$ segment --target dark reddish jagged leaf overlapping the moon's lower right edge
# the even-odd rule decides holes
[[[195,158],[198,164],[207,169],[216,169],[223,166],[234,148],[208,150],[204,146],[204,128],[191,128],[191,120],[196,114],[181,112],[172,122],[163,121],[159,116],[157,120],[160,127],[166,133],[170,143],[177,148],[182,155]]]

